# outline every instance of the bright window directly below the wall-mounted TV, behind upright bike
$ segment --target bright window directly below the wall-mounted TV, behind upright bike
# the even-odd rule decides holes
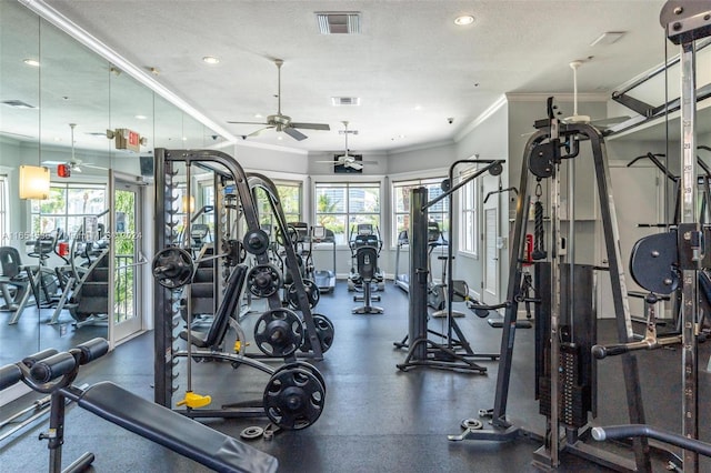
[[[359,223],[370,223],[380,233],[379,182],[317,182],[316,224],[331,230],[336,244],[348,244]]]

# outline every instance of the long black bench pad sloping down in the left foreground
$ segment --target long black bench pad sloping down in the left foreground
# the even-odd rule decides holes
[[[218,472],[276,472],[276,457],[109,381],[90,386],[78,405]]]

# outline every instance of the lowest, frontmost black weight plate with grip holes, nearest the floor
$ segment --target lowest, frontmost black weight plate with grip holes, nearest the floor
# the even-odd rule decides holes
[[[274,373],[264,388],[264,411],[281,429],[301,430],[312,425],[323,412],[324,401],[321,382],[301,368]]]

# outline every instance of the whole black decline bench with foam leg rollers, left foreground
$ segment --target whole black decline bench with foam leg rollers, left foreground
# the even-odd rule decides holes
[[[79,366],[109,350],[103,339],[93,339],[69,352],[44,350],[16,364],[0,368],[0,391],[19,381],[34,391],[51,394],[50,432],[40,439],[49,440],[50,473],[61,472],[66,399],[144,439],[163,445],[218,472],[274,472],[277,459],[238,440],[224,435],[170,409],[140,397],[111,382],[100,382],[86,390],[71,383]],[[68,466],[82,471],[94,460],[84,453]]]

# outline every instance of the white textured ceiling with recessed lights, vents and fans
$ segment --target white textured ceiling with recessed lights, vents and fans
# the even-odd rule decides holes
[[[306,151],[342,149],[343,120],[359,131],[354,151],[453,140],[503,93],[572,92],[572,60],[585,61],[579,91],[608,95],[664,60],[661,0],[47,3],[133,64],[156,68],[160,83],[237,139],[260,127],[228,121],[277,111],[272,61],[283,59],[282,112],[331,131],[302,130],[309,138],[299,142],[268,130],[247,141]],[[319,34],[318,11],[358,11],[361,32]],[[461,13],[474,23],[455,26]],[[625,36],[591,47],[604,31]],[[340,95],[361,104],[332,107]]]

